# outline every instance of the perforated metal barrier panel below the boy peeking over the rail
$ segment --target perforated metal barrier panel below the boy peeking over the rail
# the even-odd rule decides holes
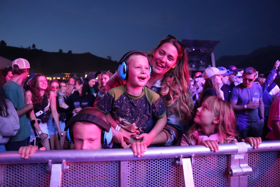
[[[120,186],[120,162],[67,163],[62,186]]]

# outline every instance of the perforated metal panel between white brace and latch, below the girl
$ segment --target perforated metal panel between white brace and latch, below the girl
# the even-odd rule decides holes
[[[201,156],[192,159],[195,186],[227,186],[227,155]]]

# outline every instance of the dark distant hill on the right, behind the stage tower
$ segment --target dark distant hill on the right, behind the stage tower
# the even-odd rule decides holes
[[[254,50],[251,54],[222,56],[216,60],[216,67],[235,65],[237,68],[254,67],[259,73],[266,73],[280,60],[280,46],[267,46]]]

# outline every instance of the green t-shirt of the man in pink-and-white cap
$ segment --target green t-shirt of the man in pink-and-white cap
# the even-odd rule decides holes
[[[20,110],[24,105],[23,93],[20,89],[20,85],[13,82],[12,80],[6,82],[3,86],[5,95],[8,100],[12,101],[16,110]],[[15,136],[10,137],[10,142],[17,142],[25,140],[30,136],[30,126],[26,119],[26,114],[23,114],[20,119],[20,129]]]

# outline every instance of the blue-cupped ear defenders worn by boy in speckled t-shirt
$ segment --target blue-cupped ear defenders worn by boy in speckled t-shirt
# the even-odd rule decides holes
[[[118,65],[118,77],[121,79],[121,80],[127,80],[127,77],[128,77],[128,66],[127,66],[127,63],[125,62],[125,60],[127,59],[127,57],[129,57],[129,55],[133,54],[133,53],[141,53],[143,54],[144,56],[146,56],[143,52],[141,51],[129,51],[127,53],[125,53],[122,58],[120,59],[119,61],[119,65]],[[152,66],[149,65],[149,70],[150,70],[150,75],[152,73]]]

